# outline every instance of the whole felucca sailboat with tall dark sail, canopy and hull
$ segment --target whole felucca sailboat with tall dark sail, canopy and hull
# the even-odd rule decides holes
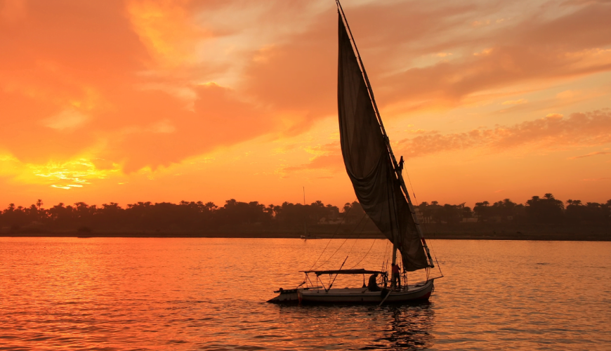
[[[429,270],[435,265],[409,197],[382,119],[367,72],[350,32],[343,8],[336,1],[339,13],[339,63],[337,105],[341,152],[348,177],[367,216],[393,244],[392,263],[405,272],[426,270],[426,281],[418,284],[397,284],[387,289],[388,272],[383,270],[350,269],[308,270],[306,279],[296,289],[280,289],[270,303],[404,303],[428,300],[435,278]],[[398,255],[400,253],[400,262]],[[344,261],[345,262],[345,261]],[[343,267],[343,266],[342,266]],[[310,277],[313,274],[313,277]],[[333,288],[321,276],[329,274],[378,274],[382,289],[363,284],[356,288]],[[334,279],[333,279],[334,280]],[[402,286],[399,287],[399,286]]]

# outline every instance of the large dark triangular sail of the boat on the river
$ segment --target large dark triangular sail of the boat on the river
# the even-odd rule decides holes
[[[364,211],[399,249],[404,270],[433,267],[346,26],[340,13],[337,99],[346,171]]]

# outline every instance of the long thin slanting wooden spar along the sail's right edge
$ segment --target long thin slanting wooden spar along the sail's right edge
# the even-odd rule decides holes
[[[365,71],[365,66],[361,60],[361,55],[359,53],[359,49],[356,46],[356,41],[352,35],[352,31],[350,30],[350,25],[348,25],[348,20],[346,19],[346,14],[343,13],[343,8],[339,3],[339,0],[336,0],[337,8],[339,13],[341,13],[341,17],[343,18],[343,22],[346,24],[346,29],[348,29],[348,35],[350,35],[350,40],[354,46],[354,51],[357,56],[357,60],[359,62],[359,66],[361,72],[363,74],[363,78],[365,81],[365,85],[367,86],[367,92],[369,93],[369,100],[372,100],[372,104],[374,106],[374,111],[376,113],[376,119],[378,120],[378,124],[380,126],[382,135],[384,137],[384,142],[386,143],[386,148],[388,149],[388,153],[390,154],[390,159],[393,161],[393,168],[395,168],[395,176],[397,176],[399,183],[401,185],[401,190],[407,199],[407,204],[409,205],[409,212],[412,213],[412,219],[414,220],[414,224],[416,225],[416,232],[418,232],[418,236],[420,237],[420,241],[422,242],[422,246],[424,248],[424,253],[426,253],[426,258],[428,260],[428,265],[430,267],[435,267],[433,264],[433,258],[431,258],[431,252],[428,250],[428,246],[426,245],[426,240],[424,239],[424,234],[422,232],[422,228],[420,227],[420,223],[418,221],[418,216],[416,216],[416,211],[414,210],[414,204],[412,204],[412,199],[409,197],[409,192],[407,191],[407,187],[405,186],[405,181],[403,180],[403,175],[399,170],[399,165],[397,163],[397,159],[395,158],[395,154],[393,152],[393,147],[390,146],[390,139],[388,139],[388,135],[386,134],[386,129],[384,128],[384,124],[382,122],[382,117],[380,116],[380,112],[378,110],[378,104],[376,104],[376,99],[374,98],[374,91],[372,89],[372,85],[369,83],[369,77],[367,77],[367,71]],[[393,246],[393,263],[395,263],[396,259],[396,246]]]

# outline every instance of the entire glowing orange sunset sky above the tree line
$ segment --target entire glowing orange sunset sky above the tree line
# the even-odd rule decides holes
[[[611,4],[344,9],[417,201],[611,198]],[[332,0],[0,0],[0,207],[355,199]]]

